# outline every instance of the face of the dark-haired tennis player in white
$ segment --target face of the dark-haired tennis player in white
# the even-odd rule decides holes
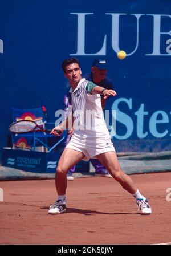
[[[72,63],[65,68],[64,76],[68,79],[71,84],[78,84],[79,81],[82,79],[82,71],[78,63]]]

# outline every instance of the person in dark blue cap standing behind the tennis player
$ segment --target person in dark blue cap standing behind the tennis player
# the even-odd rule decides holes
[[[86,80],[91,81],[97,86],[101,86],[105,89],[112,89],[112,81],[107,77],[107,71],[108,71],[108,65],[107,61],[105,59],[95,59],[93,60],[92,67],[91,67],[91,73],[84,76]],[[72,91],[69,90],[67,94],[64,96],[64,111],[67,113],[68,107],[72,104],[71,103],[71,93]],[[104,96],[101,95],[101,106],[104,110],[105,108],[105,102],[107,99],[104,99]],[[66,139],[66,145],[71,139],[73,131],[68,131],[68,136]],[[91,164],[95,168],[95,175],[96,176],[104,176],[104,177],[111,177],[111,174],[108,173],[107,169],[100,163],[97,159],[90,159]],[[67,174],[67,180],[74,180],[74,177],[72,173],[75,171],[75,166],[73,166],[68,174]]]

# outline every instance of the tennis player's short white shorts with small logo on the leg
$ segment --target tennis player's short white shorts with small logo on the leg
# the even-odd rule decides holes
[[[107,139],[101,138],[87,138],[80,136],[72,136],[66,148],[72,148],[76,151],[83,152],[86,156],[84,157],[84,161],[88,161],[89,159],[97,159],[97,155],[109,151],[114,151],[113,143],[109,137]]]

